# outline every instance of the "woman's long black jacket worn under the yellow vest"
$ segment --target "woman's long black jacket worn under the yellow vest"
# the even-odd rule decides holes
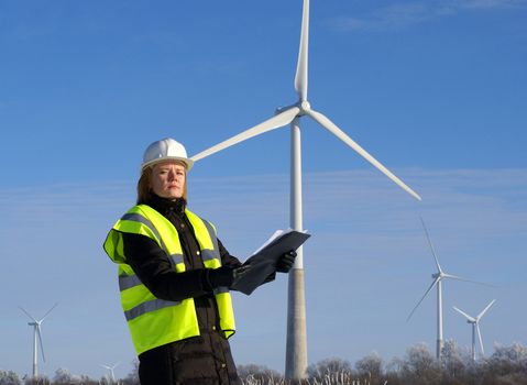
[[[177,229],[186,271],[176,273],[166,253],[147,237],[123,233],[124,255],[154,296],[167,300],[193,297],[200,336],[162,345],[140,354],[142,385],[241,384],[229,342],[219,329],[219,316],[208,272],[200,257],[194,229],[185,215],[185,200],[155,197],[144,202],[165,216]],[[221,263],[241,265],[218,240]]]

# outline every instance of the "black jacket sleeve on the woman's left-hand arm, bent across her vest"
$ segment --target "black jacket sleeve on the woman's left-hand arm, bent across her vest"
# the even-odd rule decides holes
[[[176,273],[155,241],[130,233],[122,233],[122,238],[127,263],[157,298],[183,300],[210,294],[205,268]]]

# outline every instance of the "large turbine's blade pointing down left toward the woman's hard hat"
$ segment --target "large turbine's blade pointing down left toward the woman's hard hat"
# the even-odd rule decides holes
[[[199,154],[191,156],[190,158],[194,162],[196,162],[196,161],[202,160],[204,157],[212,155],[217,153],[218,151],[230,147],[231,145],[246,141],[248,139],[251,139],[253,136],[263,134],[264,132],[279,129],[281,127],[289,124],[293,121],[293,119],[295,119],[295,117],[298,114],[298,112],[300,112],[300,109],[298,107],[293,107],[260,124],[254,125],[253,128],[249,130],[243,131],[242,133],[239,133],[238,135],[234,135],[228,139],[227,141],[223,141],[208,150],[200,152]]]

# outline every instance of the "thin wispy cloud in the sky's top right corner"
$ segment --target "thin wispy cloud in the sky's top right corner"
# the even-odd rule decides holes
[[[384,7],[362,18],[334,18],[330,24],[340,31],[393,31],[452,16],[463,11],[526,8],[526,0],[413,1]]]

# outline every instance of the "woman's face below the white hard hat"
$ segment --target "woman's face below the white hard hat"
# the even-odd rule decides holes
[[[174,161],[157,163],[152,168],[150,185],[162,198],[180,198],[185,191],[185,166]]]

